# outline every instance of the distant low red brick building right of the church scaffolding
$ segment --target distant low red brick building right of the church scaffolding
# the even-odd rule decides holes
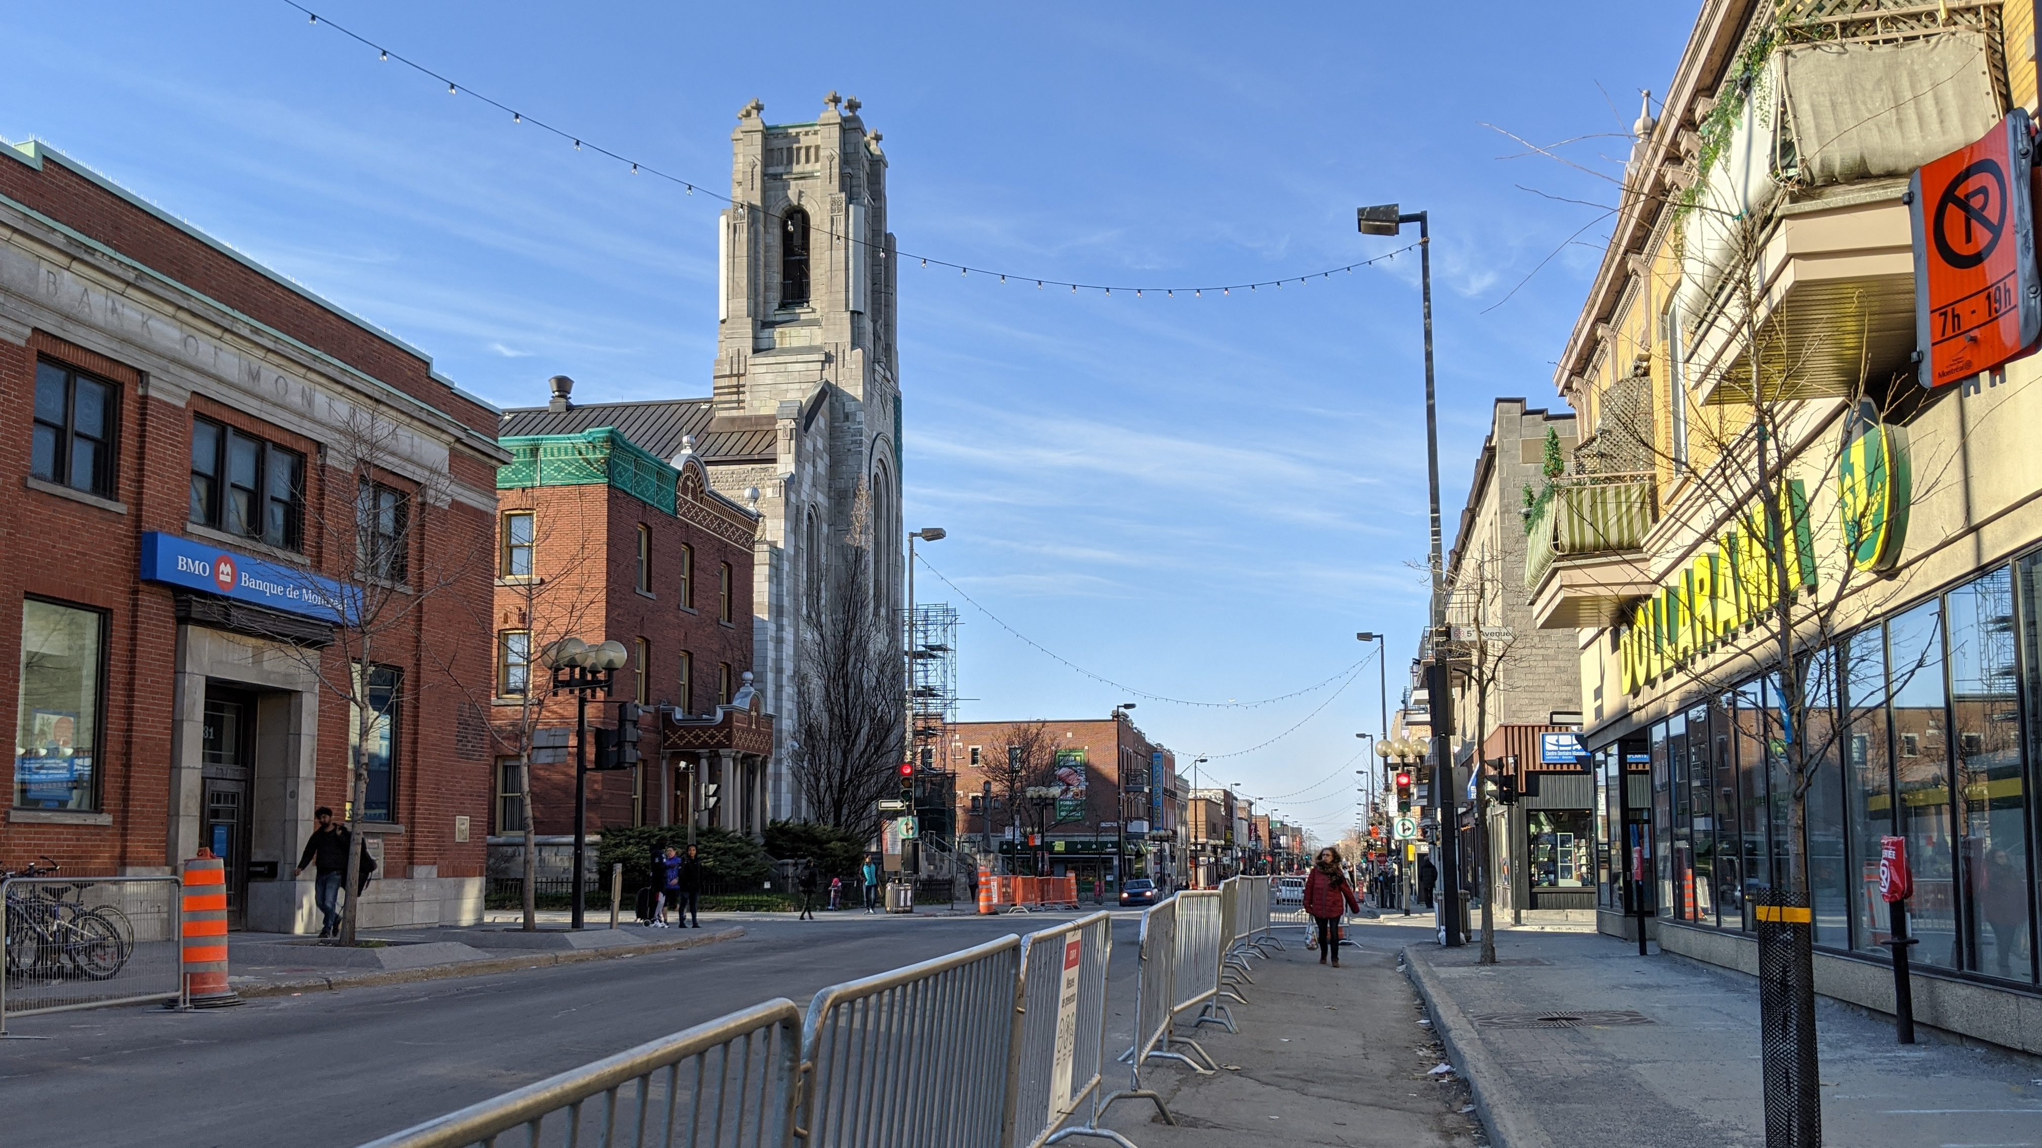
[[[1041,742],[1019,788],[1058,793],[1023,793],[1015,803],[1009,762],[1015,750],[1029,748],[1035,725]],[[1115,893],[1127,876],[1174,876],[1174,842],[1162,829],[1156,782],[1166,786],[1176,756],[1150,742],[1125,711],[1105,721],[960,721],[943,737],[958,762],[960,852],[982,852],[990,835],[994,852],[1019,860],[1021,872],[1033,866],[1076,876],[1084,891]],[[1029,844],[1029,833],[1039,840]]]

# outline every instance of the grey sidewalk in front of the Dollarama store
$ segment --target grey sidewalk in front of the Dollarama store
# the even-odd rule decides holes
[[[1499,931],[1495,966],[1407,944],[1497,1148],[1764,1144],[1754,978],[1595,934]],[[2042,1144],[2042,1062],[1895,1044],[1891,1021],[1834,1001],[1817,1032],[1828,1144]]]

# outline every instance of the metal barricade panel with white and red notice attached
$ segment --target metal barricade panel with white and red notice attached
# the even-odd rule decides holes
[[[1072,1136],[1133,1148],[1119,1132],[1099,1128],[1111,962],[1113,917],[1107,913],[1021,938],[1021,995],[1015,1005],[1021,1034],[1009,1074],[1007,1148],[1041,1148]],[[1168,1121],[1170,1109],[1154,1093],[1150,1097]],[[1080,1117],[1086,1103],[1090,1111]]]

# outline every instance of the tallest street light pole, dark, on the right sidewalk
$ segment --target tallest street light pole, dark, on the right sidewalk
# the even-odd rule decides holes
[[[1454,715],[1448,690],[1446,633],[1446,562],[1440,554],[1440,406],[1431,370],[1431,225],[1425,212],[1399,210],[1397,204],[1364,206],[1354,212],[1362,235],[1397,235],[1403,225],[1417,225],[1419,286],[1425,306],[1425,482],[1431,496],[1431,672],[1425,697],[1431,725],[1431,805],[1440,827],[1440,944],[1460,946],[1460,872],[1454,864],[1460,844],[1460,817],[1450,797],[1454,780]]]

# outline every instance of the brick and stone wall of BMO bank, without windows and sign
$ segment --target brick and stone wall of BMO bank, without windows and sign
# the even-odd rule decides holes
[[[114,386],[110,482],[100,494],[33,478],[37,364]],[[392,817],[374,827],[382,868],[363,923],[472,919],[480,911],[488,823],[488,680],[482,625],[496,417],[431,372],[431,362],[221,243],[39,145],[0,149],[0,515],[33,549],[0,570],[0,697],[20,729],[25,601],[102,617],[92,793],[25,799],[10,782],[0,864],[51,856],[65,872],[169,872],[210,842],[208,795],[235,791],[229,831],[235,915],[249,927],[317,927],[310,880],[292,866],[314,805],[345,809],[349,715],[323,686],[347,678],[343,648],[296,654],[259,607],[139,578],[151,531],[231,556],[351,576],[353,478],[329,458],[339,411],[402,435],[378,478],[431,488],[410,531],[415,605],[378,635],[372,658],[402,674]],[[190,521],[194,417],[298,451],[298,549]],[[241,562],[237,558],[237,562]],[[190,619],[180,617],[190,611]],[[253,621],[251,621],[253,619]],[[300,625],[302,617],[296,619]],[[314,625],[317,629],[317,625]],[[237,778],[208,764],[208,697],[245,699]],[[218,723],[212,723],[218,725]],[[225,758],[223,758],[225,760]],[[25,774],[27,776],[27,774]],[[457,842],[457,817],[470,831]],[[276,866],[276,876],[249,876]],[[241,884],[247,882],[247,884]]]

